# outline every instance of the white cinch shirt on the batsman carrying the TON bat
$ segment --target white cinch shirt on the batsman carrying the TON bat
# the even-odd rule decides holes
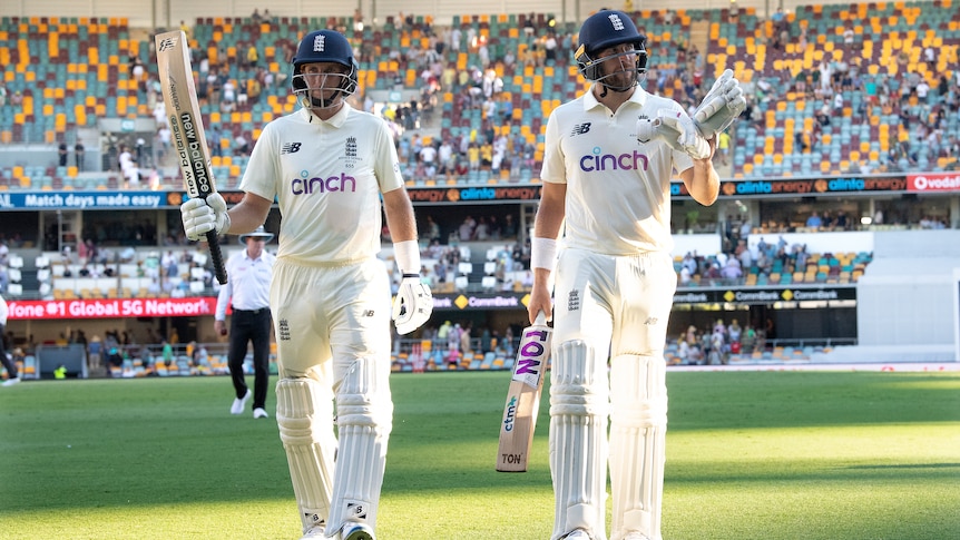
[[[669,252],[670,177],[693,159],[662,139],[637,141],[637,119],[683,111],[672,99],[637,87],[611,114],[592,87],[550,114],[543,181],[567,184],[564,245],[608,255]]]

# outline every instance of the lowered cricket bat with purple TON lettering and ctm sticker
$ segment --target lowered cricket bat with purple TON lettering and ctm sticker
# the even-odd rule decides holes
[[[507,406],[500,422],[500,449],[497,452],[497,470],[500,472],[527,471],[552,333],[554,328],[547,326],[547,315],[540,312],[533,325],[523,328],[520,336],[513,376],[507,391]]]

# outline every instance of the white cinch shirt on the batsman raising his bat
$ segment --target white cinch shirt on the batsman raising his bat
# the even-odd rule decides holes
[[[375,256],[380,194],[402,186],[386,122],[346,104],[326,121],[301,108],[267,124],[241,181],[277,200],[277,258],[321,265]]]

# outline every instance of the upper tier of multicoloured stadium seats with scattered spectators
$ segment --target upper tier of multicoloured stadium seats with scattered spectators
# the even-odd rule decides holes
[[[724,67],[734,68],[751,96],[718,155],[734,177],[956,167],[960,16],[939,1],[854,8],[809,6],[766,20],[753,9],[637,11],[650,51],[646,87],[693,108]],[[708,22],[705,42],[690,40],[696,21]],[[262,126],[294,107],[287,61],[306,30],[351,38],[361,66],[356,106],[392,122],[412,184],[536,181],[546,117],[584,88],[571,61],[576,24],[545,13],[454,17],[449,26],[401,13],[374,28],[362,13],[257,12],[183,26],[215,167],[231,185]],[[0,37],[0,140],[52,148],[51,167],[30,174],[62,186],[82,165],[56,160],[58,146],[92,144],[78,140],[77,129],[99,117],[155,116],[156,134],[121,141],[133,151],[141,139],[151,158],[134,159],[138,177],[128,165],[123,178],[129,187],[176,186],[169,168],[157,168],[168,163],[169,135],[151,39],[124,20],[56,17],[6,18]],[[395,89],[417,97],[388,105],[371,98]],[[123,154],[120,145],[101,144]],[[108,168],[118,163],[112,157]],[[4,169],[2,184],[46,185],[27,173]]]

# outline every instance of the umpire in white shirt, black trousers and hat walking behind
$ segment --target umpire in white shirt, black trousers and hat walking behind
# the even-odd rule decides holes
[[[266,390],[270,379],[270,281],[276,258],[264,249],[273,239],[263,226],[253,233],[239,236],[239,242],[246,249],[235,253],[227,261],[226,269],[229,276],[227,284],[221,287],[217,297],[217,312],[214,328],[219,335],[226,335],[227,304],[233,304],[231,318],[229,352],[227,366],[234,384],[234,399],[231,414],[243,414],[246,403],[253,397],[253,418],[265,419]],[[243,364],[246,357],[247,343],[253,344],[254,391],[251,394],[244,377]]]

